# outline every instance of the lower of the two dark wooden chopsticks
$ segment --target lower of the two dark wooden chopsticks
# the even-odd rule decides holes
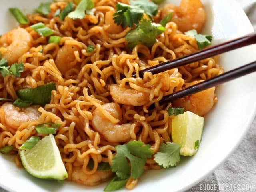
[[[226,83],[228,81],[234,80],[236,78],[250,74],[255,71],[256,71],[256,61],[251,62],[247,65],[241,66],[239,68],[236,68],[234,70],[228,71],[226,73],[223,73],[223,74],[216,76],[212,79],[209,79],[204,82],[200,82],[196,85],[190,86],[184,90],[174,92],[170,95],[164,96],[162,98],[162,100],[159,101],[159,104],[160,105],[167,104],[174,100],[189,96],[191,94],[206,90],[211,87],[218,86],[220,84]],[[149,109],[152,109],[152,108],[154,108],[154,104],[152,104],[149,107]]]

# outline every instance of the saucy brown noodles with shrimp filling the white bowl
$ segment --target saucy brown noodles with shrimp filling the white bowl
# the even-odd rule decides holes
[[[145,1],[148,0],[138,0]],[[70,13],[83,2],[89,0],[71,1]],[[0,97],[5,98],[0,107],[0,148],[13,146],[9,153],[15,156],[17,166],[22,167],[19,152],[27,140],[49,135],[36,128],[58,124],[54,138],[68,173],[67,180],[94,186],[116,174],[116,178],[125,181],[127,189],[132,189],[139,182],[139,178],[133,176],[133,169],[124,176],[113,166],[118,162],[117,146],[127,146],[132,156],[141,158],[142,170],[166,168],[154,155],[164,153],[163,144],[174,142],[172,121],[176,115],[170,115],[168,108],[184,108],[205,116],[217,102],[215,88],[210,88],[170,104],[160,106],[158,103],[166,95],[222,74],[224,70],[216,58],[159,74],[147,72],[143,78],[138,75],[140,70],[201,48],[196,37],[207,15],[200,0],[182,0],[178,7],[166,4],[151,12],[152,16],[145,11],[141,20],[132,26],[124,26],[124,21],[118,24],[117,5],[130,6],[132,2],[136,0],[94,0],[92,12],[86,11],[84,18],[77,19],[70,18],[70,14],[61,19],[60,14],[56,14],[66,9],[70,0],[53,2],[47,14],[27,15],[28,24],[20,24],[0,38],[1,61],[7,61],[0,69]],[[143,10],[144,6],[137,6],[137,10],[139,7]],[[172,16],[165,26],[160,26],[170,13]],[[39,23],[52,31],[51,36],[40,34],[33,27]],[[160,34],[154,34],[155,42],[150,45],[144,38],[136,44],[135,40],[129,41],[134,30],[136,34],[142,33],[143,23],[151,24],[152,29],[152,23],[159,25],[157,29],[165,28]],[[193,29],[198,34],[185,34]],[[55,40],[59,37],[57,43],[49,40],[52,36]],[[11,66],[15,66],[15,70]],[[136,78],[132,77],[134,73]],[[49,84],[55,88],[50,90],[48,103],[41,103],[47,98],[45,92],[30,96],[29,91],[22,91],[38,90]],[[32,97],[31,101],[25,99]],[[148,110],[152,104],[154,110]],[[140,147],[148,146],[151,154],[136,155],[129,148],[128,143],[135,145],[131,141],[142,142]],[[132,166],[128,155],[124,159]],[[102,163],[109,168],[103,170]]]

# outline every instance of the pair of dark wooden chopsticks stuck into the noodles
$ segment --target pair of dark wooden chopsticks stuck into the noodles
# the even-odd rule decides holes
[[[246,36],[243,36],[241,38],[237,38],[235,40],[231,40],[204,50],[200,50],[198,52],[195,52],[193,54],[186,55],[182,58],[178,58],[175,60],[171,60],[168,62],[161,63],[156,66],[152,66],[149,68],[146,68],[144,70],[141,70],[139,72],[139,76],[142,78],[144,73],[151,72],[152,74],[158,74],[173,68],[177,68],[180,66],[184,66],[186,64],[190,64],[196,61],[200,61],[212,56],[216,56],[218,54],[222,54],[224,52],[228,52],[231,50],[235,50],[244,46],[248,46],[251,44],[256,43],[256,33],[252,33]],[[239,78],[241,76],[250,74],[252,72],[256,71],[256,61],[249,63],[247,65],[241,66],[239,68],[236,68],[234,70],[225,72],[219,76],[216,76],[212,79],[206,80],[204,82],[200,82],[199,84],[190,86],[184,90],[174,92],[170,95],[164,96],[162,100],[160,100],[159,104],[167,104],[169,102],[172,102],[174,100],[177,100],[179,98],[183,98],[186,96],[189,96],[191,94],[206,90],[208,88],[218,86],[222,83],[228,82],[230,80],[234,80],[236,78]],[[136,77],[136,74],[132,75],[133,77]],[[154,108],[154,104],[150,106],[150,108]]]

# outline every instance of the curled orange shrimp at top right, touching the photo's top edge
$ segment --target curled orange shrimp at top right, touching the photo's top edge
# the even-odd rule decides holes
[[[202,30],[206,20],[204,6],[200,0],[182,0],[179,7],[172,4],[164,6],[161,17],[173,12],[172,21],[176,22],[182,32],[195,29]]]

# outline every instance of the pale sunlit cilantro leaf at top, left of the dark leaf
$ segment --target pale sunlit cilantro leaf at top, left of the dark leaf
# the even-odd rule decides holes
[[[92,8],[94,8],[94,2],[92,0],[82,0],[76,7],[76,10],[68,14],[72,19],[83,19],[86,14],[92,14]]]

